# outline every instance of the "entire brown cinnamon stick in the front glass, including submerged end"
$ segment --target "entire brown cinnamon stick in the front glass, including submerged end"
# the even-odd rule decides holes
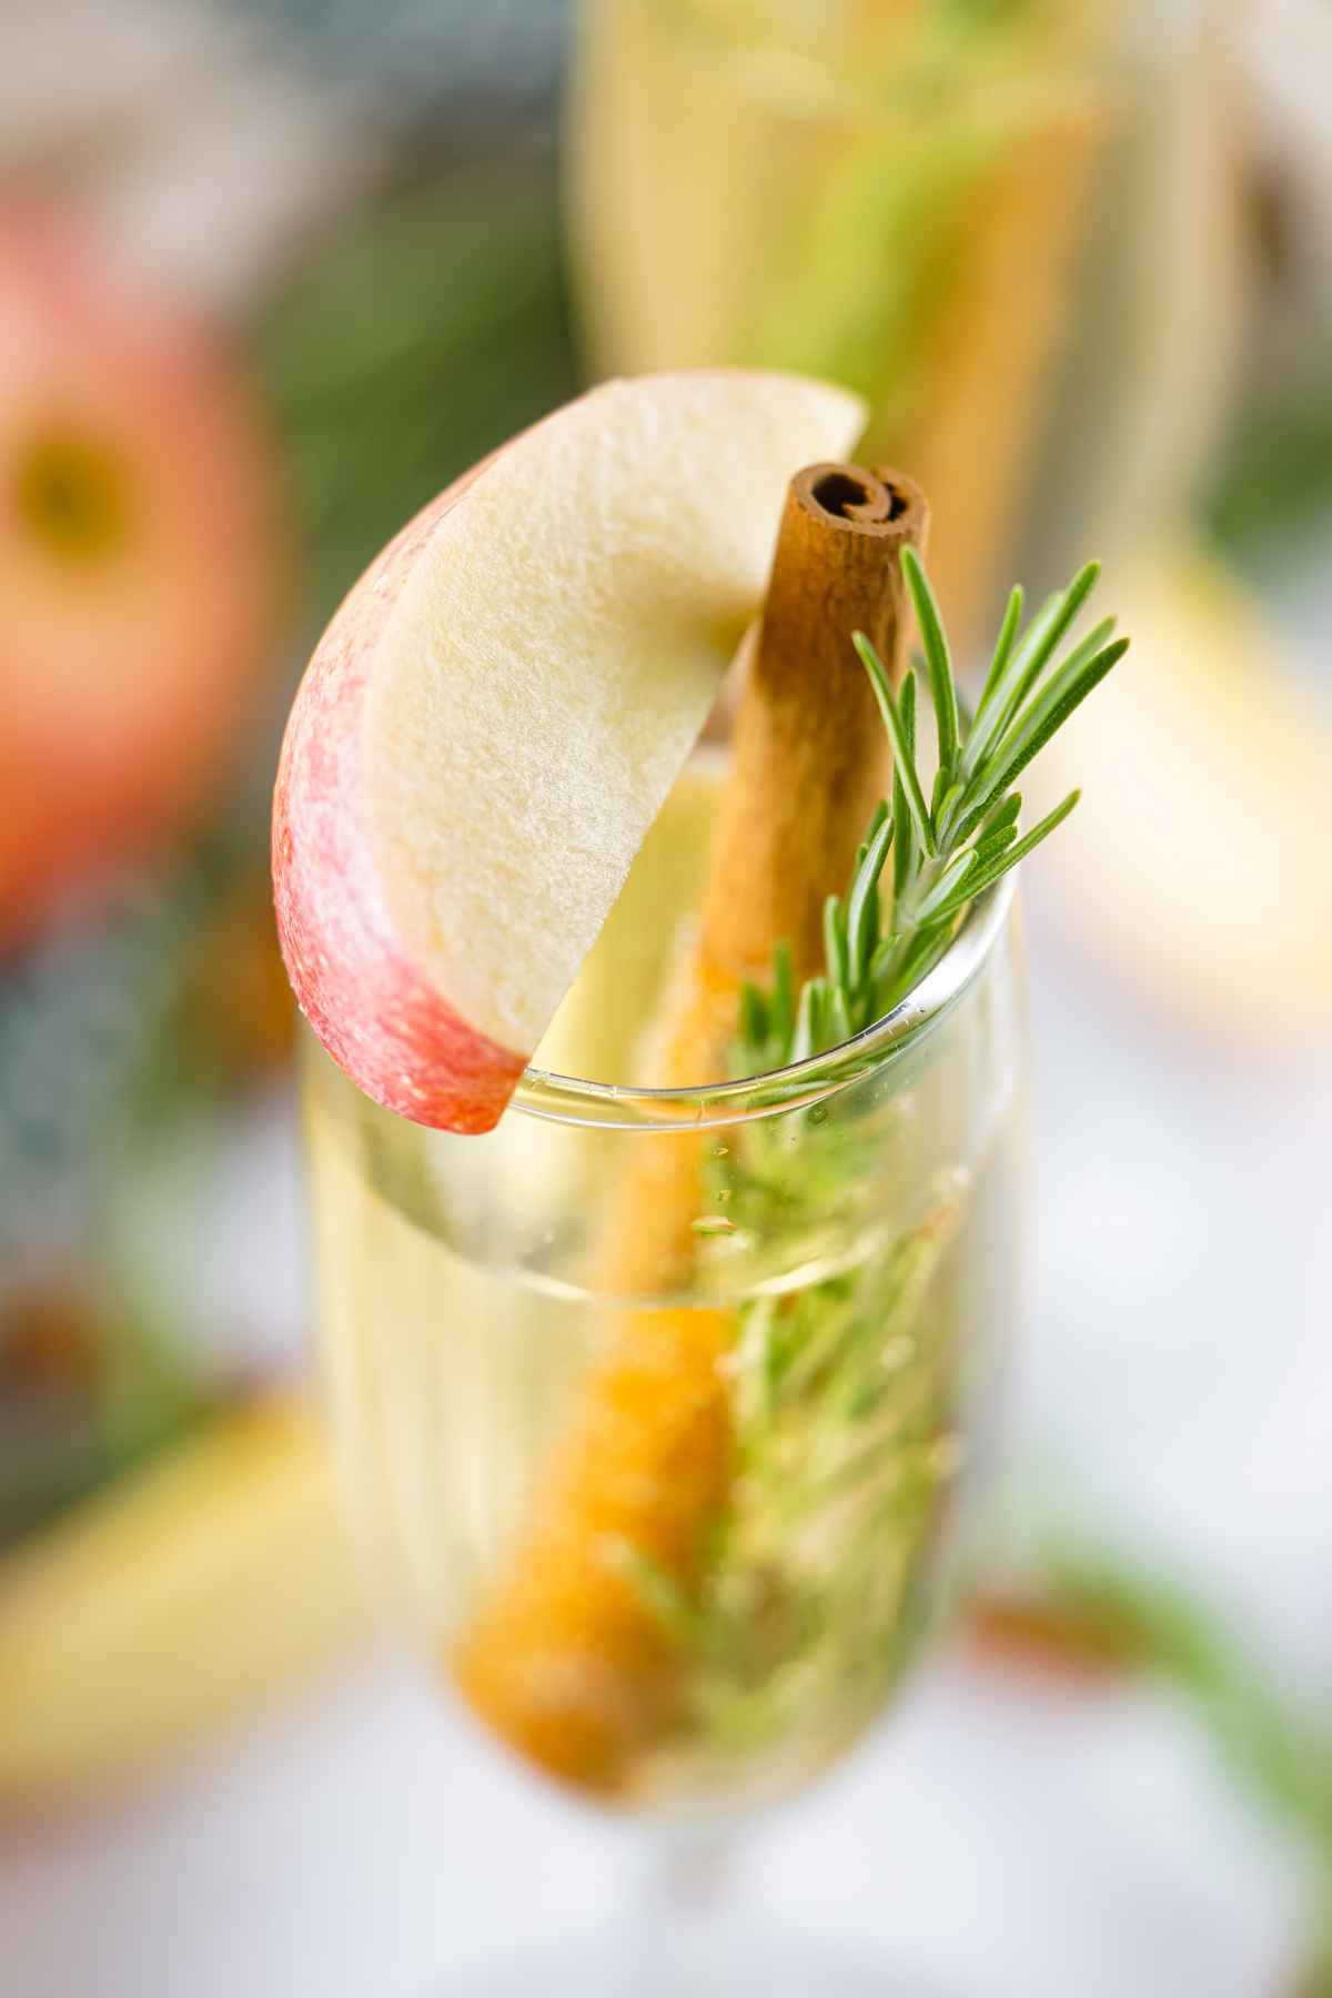
[[[723,1071],[743,979],[789,939],[817,967],[823,901],[847,881],[889,781],[851,633],[901,655],[901,549],[927,503],[895,472],[811,466],[787,494],[767,607],[719,801],[699,927],[665,997],[651,1081]],[[593,1257],[593,1291],[659,1297],[687,1273],[701,1139],[643,1135]],[[689,1586],[729,1479],[721,1371],[735,1313],[623,1311],[583,1383],[509,1568],[453,1652],[471,1704],[553,1774],[623,1786],[679,1694],[671,1644],[615,1550]]]

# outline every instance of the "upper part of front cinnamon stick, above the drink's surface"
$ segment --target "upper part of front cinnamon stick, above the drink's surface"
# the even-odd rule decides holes
[[[819,969],[825,897],[845,887],[891,775],[851,633],[865,631],[901,673],[901,551],[923,549],[927,531],[925,496],[901,472],[825,464],[791,480],[699,927],[647,1055],[647,1081],[657,1089],[725,1077],[739,989],[769,977],[783,937],[797,979]],[[687,1135],[635,1151],[603,1227],[599,1289],[659,1293],[687,1265],[697,1165],[697,1141]]]

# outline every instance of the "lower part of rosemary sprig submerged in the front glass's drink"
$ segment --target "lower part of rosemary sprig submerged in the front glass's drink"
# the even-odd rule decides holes
[[[921,1634],[923,1560],[961,1463],[939,1283],[967,1189],[935,1191],[881,1255],[741,1311],[731,1497],[697,1584],[611,1548],[689,1658],[689,1730],[711,1756],[781,1742],[819,1760],[875,1712]]]

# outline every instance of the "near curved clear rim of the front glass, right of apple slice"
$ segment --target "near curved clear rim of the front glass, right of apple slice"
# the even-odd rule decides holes
[[[597,1125],[611,1131],[711,1131],[779,1111],[809,1109],[883,1067],[953,1011],[1002,935],[1012,893],[1010,871],[977,897],[945,955],[891,1013],[821,1055],[741,1081],[689,1083],[679,1089],[589,1083],[529,1065],[509,1109],[547,1123]]]

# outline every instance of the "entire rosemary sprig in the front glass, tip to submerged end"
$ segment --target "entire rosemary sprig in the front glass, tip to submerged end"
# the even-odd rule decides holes
[[[893,795],[865,829],[847,893],[827,901],[823,971],[797,993],[781,943],[771,985],[741,993],[739,1073],[817,1055],[891,1011],[939,961],[973,899],[1076,803],[1072,793],[1020,833],[1010,785],[1124,651],[1106,623],[1056,663],[1094,565],[1024,631],[1014,591],[975,713],[925,569],[913,553],[903,567],[923,633],[919,677],[909,673],[895,693],[857,637],[893,743]],[[935,721],[929,787],[917,763],[917,685]],[[929,1590],[919,1584],[961,1465],[967,1355],[955,1333],[971,1309],[975,1257],[987,1255],[991,1167],[939,1167],[885,1239],[883,1161],[897,1117],[897,1097],[859,1095],[833,1111],[817,1103],[763,1117],[705,1171],[715,1205],[695,1223],[703,1267],[725,1269],[769,1237],[787,1257],[809,1241],[813,1261],[821,1245],[843,1243],[845,1257],[845,1241],[865,1243],[853,1267],[739,1307],[727,1359],[733,1475],[693,1582],[639,1548],[613,1548],[689,1660],[685,1718],[709,1754],[777,1742],[797,1758],[827,1754],[885,1698],[923,1624]]]

